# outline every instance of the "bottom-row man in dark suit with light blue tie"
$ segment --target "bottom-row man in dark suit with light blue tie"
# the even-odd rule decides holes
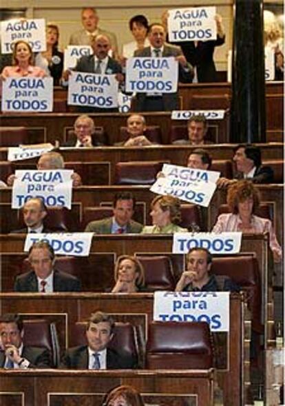
[[[63,369],[132,369],[136,361],[123,351],[116,352],[107,345],[114,336],[114,320],[103,312],[93,313],[87,323],[87,345],[66,350]]]

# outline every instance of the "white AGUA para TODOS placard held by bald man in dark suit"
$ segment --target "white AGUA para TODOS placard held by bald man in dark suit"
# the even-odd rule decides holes
[[[68,105],[94,108],[118,107],[118,81],[114,74],[72,72],[68,85]]]

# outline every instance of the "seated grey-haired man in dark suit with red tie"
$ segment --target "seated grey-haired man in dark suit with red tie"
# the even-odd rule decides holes
[[[29,262],[32,271],[17,276],[15,292],[80,292],[76,276],[54,269],[54,250],[49,243],[38,241],[30,247]]]

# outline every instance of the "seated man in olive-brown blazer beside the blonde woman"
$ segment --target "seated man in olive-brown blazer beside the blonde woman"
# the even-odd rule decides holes
[[[95,234],[126,234],[139,233],[142,225],[131,217],[134,214],[136,199],[130,192],[116,193],[114,197],[114,216],[107,219],[90,221],[85,231]]]

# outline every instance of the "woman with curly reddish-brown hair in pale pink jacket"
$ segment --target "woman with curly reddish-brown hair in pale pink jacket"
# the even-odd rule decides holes
[[[226,203],[231,213],[220,214],[213,232],[241,231],[244,233],[269,233],[269,245],[276,263],[282,259],[282,249],[277,241],[269,219],[256,216],[260,205],[260,194],[252,181],[238,181],[229,187]]]

